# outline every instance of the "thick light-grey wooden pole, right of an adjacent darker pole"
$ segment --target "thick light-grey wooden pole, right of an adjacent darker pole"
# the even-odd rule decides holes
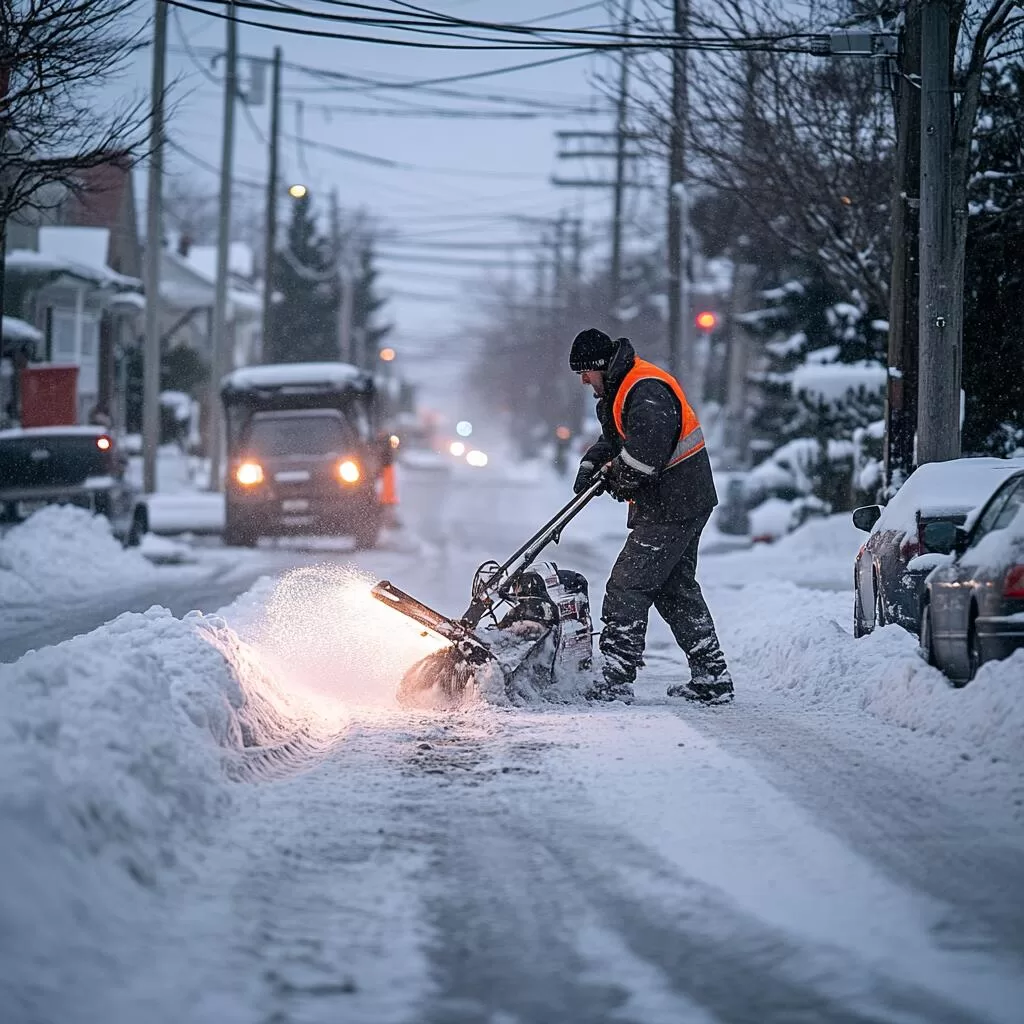
[[[918,463],[959,456],[961,352],[951,324],[950,0],[921,3],[921,356]]]

